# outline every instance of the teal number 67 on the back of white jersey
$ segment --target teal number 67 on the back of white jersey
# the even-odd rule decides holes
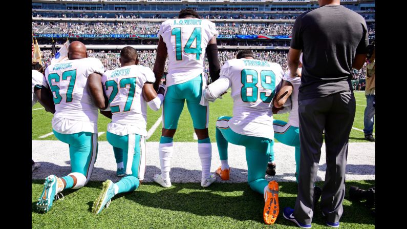
[[[71,77],[69,80],[68,90],[67,90],[67,99],[66,102],[72,102],[72,93],[74,91],[75,80],[76,80],[76,69],[65,71],[62,73],[62,80],[67,80],[68,77]],[[54,103],[55,105],[59,104],[62,100],[62,96],[59,94],[59,87],[51,84],[51,80],[54,79],[55,82],[59,82],[61,79],[58,73],[51,73],[48,75],[48,82],[52,92],[55,92]]]

